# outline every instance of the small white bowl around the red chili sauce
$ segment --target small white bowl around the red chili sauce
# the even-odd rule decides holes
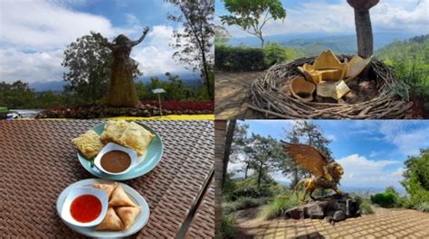
[[[74,220],[70,212],[70,207],[73,200],[85,194],[90,194],[92,196],[95,196],[99,198],[101,202],[100,216],[98,216],[97,218],[95,218],[93,221],[89,223],[81,223]],[[108,207],[109,207],[109,198],[105,191],[97,188],[90,188],[90,187],[74,187],[74,188],[71,188],[69,194],[64,200],[64,204],[62,205],[61,217],[62,217],[62,220],[66,221],[71,225],[77,225],[82,227],[99,225],[101,221],[104,219],[104,217],[106,216]]]

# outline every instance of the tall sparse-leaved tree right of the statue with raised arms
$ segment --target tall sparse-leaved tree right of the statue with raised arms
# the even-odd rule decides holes
[[[199,70],[205,79],[207,96],[215,98],[215,78],[213,75],[212,62],[214,60],[212,46],[215,36],[214,0],[166,0],[175,5],[181,14],[168,14],[167,18],[176,23],[182,23],[183,32],[174,32],[176,43],[174,47],[178,50],[173,57],[189,64],[193,70]]]

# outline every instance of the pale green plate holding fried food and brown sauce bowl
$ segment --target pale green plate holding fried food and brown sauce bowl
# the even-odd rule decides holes
[[[146,154],[140,156],[143,157],[143,159],[140,159],[139,157],[138,161],[140,162],[133,169],[129,170],[125,174],[110,175],[99,170],[95,165],[91,164],[91,161],[87,160],[85,156],[81,154],[81,152],[78,152],[78,158],[83,168],[91,172],[92,175],[101,179],[110,179],[116,181],[135,179],[148,173],[150,170],[153,170],[157,166],[159,161],[161,161],[164,145],[162,144],[161,137],[159,137],[159,135],[154,130],[152,130],[145,124],[140,125],[147,129],[150,133],[153,133],[155,137],[149,143],[148,151],[146,152]],[[95,125],[92,130],[100,135],[104,131],[104,123]]]

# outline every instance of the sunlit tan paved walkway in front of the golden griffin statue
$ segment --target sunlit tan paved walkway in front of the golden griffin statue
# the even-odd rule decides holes
[[[237,220],[244,238],[429,238],[429,213],[373,207],[374,215],[336,225],[318,219]]]

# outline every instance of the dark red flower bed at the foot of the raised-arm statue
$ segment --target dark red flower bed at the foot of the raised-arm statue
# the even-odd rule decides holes
[[[163,115],[207,115],[213,114],[214,103],[161,102]],[[150,117],[160,115],[157,101],[144,101],[138,107],[111,107],[103,105],[56,106],[39,113],[36,118],[92,119],[117,116]]]

